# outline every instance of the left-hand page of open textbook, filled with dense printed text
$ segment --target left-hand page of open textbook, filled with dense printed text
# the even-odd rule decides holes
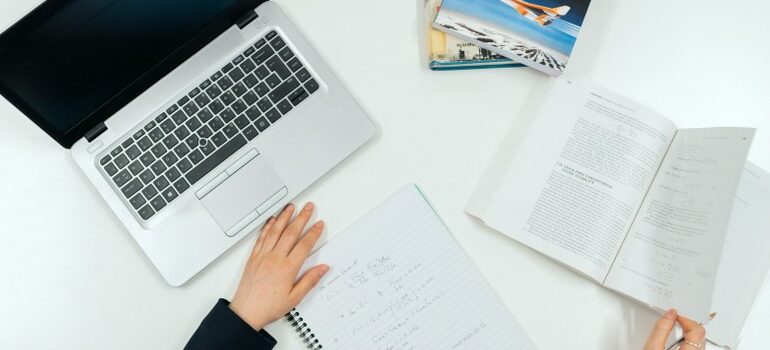
[[[528,103],[541,107],[484,222],[601,283],[676,126],[588,82]]]

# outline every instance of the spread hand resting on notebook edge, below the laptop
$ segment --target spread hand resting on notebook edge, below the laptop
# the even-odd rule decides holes
[[[329,271],[329,266],[318,265],[297,280],[324,223],[316,222],[302,236],[313,215],[313,203],[305,204],[294,220],[293,214],[294,205],[289,204],[265,223],[230,303],[230,309],[256,330],[291,311]]]

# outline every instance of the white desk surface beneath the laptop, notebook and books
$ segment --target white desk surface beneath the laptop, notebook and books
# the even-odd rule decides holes
[[[0,28],[40,0],[0,1]],[[333,236],[419,184],[542,349],[640,349],[656,316],[463,213],[532,70],[425,68],[422,0],[278,0],[371,114],[380,135],[297,201]],[[594,0],[570,70],[683,127],[759,128],[770,169],[770,2]],[[179,349],[231,297],[254,235],[181,288],[166,285],[68,152],[0,99],[0,348]],[[741,349],[770,349],[770,291]],[[760,312],[757,312],[760,311]],[[299,343],[286,324],[278,349]]]

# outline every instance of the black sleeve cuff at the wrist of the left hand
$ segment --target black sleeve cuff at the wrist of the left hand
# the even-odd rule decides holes
[[[278,343],[264,329],[251,328],[228,305],[229,301],[219,299],[201,321],[185,350],[270,350]]]

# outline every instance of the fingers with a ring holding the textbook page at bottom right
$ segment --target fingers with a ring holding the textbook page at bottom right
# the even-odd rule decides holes
[[[703,329],[703,326],[693,320],[678,316],[676,310],[671,309],[655,323],[655,328],[652,329],[650,337],[644,344],[644,350],[665,350],[668,335],[676,323],[682,326],[684,341],[674,349],[703,350],[705,348],[706,330]]]

